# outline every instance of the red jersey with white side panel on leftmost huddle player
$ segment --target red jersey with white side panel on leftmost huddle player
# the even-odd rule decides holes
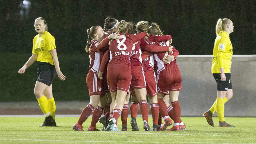
[[[89,48],[89,58],[90,58],[90,65],[89,65],[89,72],[98,72],[99,71],[99,65],[103,56],[103,49],[100,51],[101,48],[105,47],[110,39],[105,38],[101,42],[98,42],[97,40],[91,41],[91,46]]]

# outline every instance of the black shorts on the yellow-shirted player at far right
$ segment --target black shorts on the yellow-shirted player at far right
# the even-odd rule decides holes
[[[232,89],[231,74],[225,73],[226,81],[220,80],[220,73],[213,73],[213,77],[217,82],[217,91],[227,91]]]

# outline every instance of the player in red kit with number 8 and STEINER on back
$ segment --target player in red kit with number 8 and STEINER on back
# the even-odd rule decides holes
[[[107,131],[116,131],[114,124],[121,115],[124,100],[129,93],[131,83],[130,54],[133,43],[146,36],[146,33],[128,34],[128,22],[122,20],[117,24],[117,33],[121,40],[110,42],[110,62],[107,70],[107,82],[111,95],[116,96],[113,116],[109,120]]]

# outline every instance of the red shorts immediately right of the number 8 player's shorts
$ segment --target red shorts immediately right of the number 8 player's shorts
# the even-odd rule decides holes
[[[146,88],[146,80],[142,66],[132,66],[132,83],[133,89]]]

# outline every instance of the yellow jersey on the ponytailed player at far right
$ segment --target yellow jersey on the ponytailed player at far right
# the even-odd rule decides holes
[[[221,73],[220,68],[224,68],[224,73],[230,73],[232,55],[233,47],[229,34],[221,31],[214,42],[211,73]]]

